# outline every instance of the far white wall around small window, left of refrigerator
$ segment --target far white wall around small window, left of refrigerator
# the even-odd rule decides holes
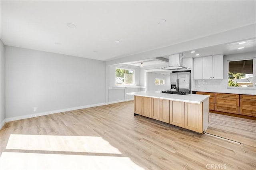
[[[165,79],[165,85],[155,85],[155,79]],[[148,91],[170,90],[170,75],[148,72]]]

